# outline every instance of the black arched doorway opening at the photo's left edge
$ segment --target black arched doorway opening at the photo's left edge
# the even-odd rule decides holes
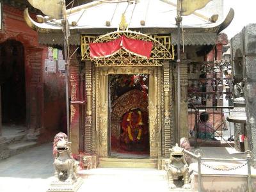
[[[15,40],[0,44],[0,85],[3,125],[26,124],[24,46]]]

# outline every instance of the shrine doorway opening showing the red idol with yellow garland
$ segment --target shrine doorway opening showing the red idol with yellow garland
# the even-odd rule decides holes
[[[149,156],[148,74],[109,75],[111,157]]]

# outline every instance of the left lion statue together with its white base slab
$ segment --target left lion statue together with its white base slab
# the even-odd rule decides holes
[[[77,174],[79,163],[71,157],[70,144],[67,137],[60,138],[54,143],[55,159],[53,164],[55,173],[54,180],[52,180],[47,192],[75,192],[83,184],[83,179]]]

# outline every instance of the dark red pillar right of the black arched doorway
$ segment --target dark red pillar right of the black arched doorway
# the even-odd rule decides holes
[[[43,128],[43,66],[46,49],[25,47],[26,68],[26,108],[28,135],[30,139],[35,138]]]

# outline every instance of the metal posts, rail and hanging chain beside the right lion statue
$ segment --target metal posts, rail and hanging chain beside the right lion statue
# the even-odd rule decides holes
[[[206,166],[207,168],[211,168],[213,170],[221,170],[221,171],[231,171],[236,170],[238,168],[241,168],[243,166],[247,165],[247,191],[252,192],[253,186],[252,186],[252,172],[251,172],[251,166],[253,166],[252,162],[256,162],[256,160],[253,158],[253,153],[250,150],[246,150],[244,154],[246,155],[246,159],[220,159],[220,158],[203,158],[202,157],[202,150],[198,149],[195,150],[195,153],[192,153],[184,148],[182,148],[184,154],[186,156],[189,156],[197,161],[198,166],[198,192],[202,191],[202,165]],[[243,164],[239,164],[238,166],[232,167],[232,168],[215,168],[214,166],[211,166],[209,164],[205,164],[203,161],[217,161],[217,162],[232,162],[232,163],[241,163],[245,162]]]

